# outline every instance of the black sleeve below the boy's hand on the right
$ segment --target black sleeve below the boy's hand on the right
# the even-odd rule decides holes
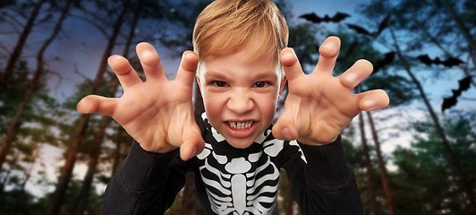
[[[303,158],[300,148],[290,145],[283,167],[293,185],[292,198],[302,214],[363,214],[361,195],[344,158],[341,137],[323,146],[299,146]]]

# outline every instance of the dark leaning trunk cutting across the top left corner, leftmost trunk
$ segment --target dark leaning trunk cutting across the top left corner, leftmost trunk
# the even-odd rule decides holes
[[[18,62],[18,59],[20,59],[21,51],[25,46],[28,36],[30,35],[31,29],[33,29],[35,20],[38,17],[39,9],[41,9],[43,3],[45,3],[45,0],[39,0],[38,3],[35,5],[35,8],[31,12],[30,18],[28,19],[25,28],[21,32],[20,39],[18,39],[15,47],[13,48],[13,53],[8,59],[8,63],[6,64],[4,73],[2,73],[2,77],[0,77],[0,95],[2,95],[2,92],[8,82],[8,79],[13,73],[15,64]]]

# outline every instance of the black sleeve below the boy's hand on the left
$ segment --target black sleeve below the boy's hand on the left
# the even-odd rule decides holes
[[[149,152],[133,142],[106,187],[101,214],[164,214],[183,188],[188,172],[178,153]]]

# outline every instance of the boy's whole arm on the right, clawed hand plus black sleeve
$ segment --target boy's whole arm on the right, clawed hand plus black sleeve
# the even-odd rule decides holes
[[[327,38],[319,47],[319,62],[306,75],[290,48],[280,60],[289,84],[285,110],[273,126],[281,140],[297,140],[307,164],[289,167],[293,172],[294,197],[304,214],[360,214],[361,198],[352,169],[344,159],[339,138],[344,128],[361,110],[387,107],[384,90],[353,94],[353,88],[372,72],[372,64],[359,60],[345,73],[332,72],[339,53],[340,40]],[[286,169],[286,173],[287,173]],[[302,176],[303,175],[303,176]]]

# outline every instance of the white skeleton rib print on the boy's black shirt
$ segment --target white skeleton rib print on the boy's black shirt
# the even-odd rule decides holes
[[[227,144],[225,138],[211,127],[218,144]],[[271,159],[284,148],[284,141],[265,142],[270,130],[259,135],[259,150],[242,155],[221,155],[211,143],[199,159],[200,175],[206,185],[208,201],[217,214],[261,215],[276,210],[279,168]]]

